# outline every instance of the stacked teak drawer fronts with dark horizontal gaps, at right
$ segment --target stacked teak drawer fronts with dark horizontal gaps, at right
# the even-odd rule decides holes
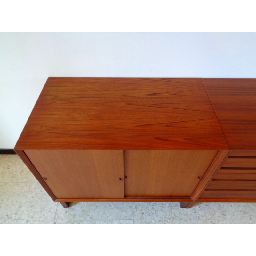
[[[256,151],[232,150],[200,199],[256,199]]]

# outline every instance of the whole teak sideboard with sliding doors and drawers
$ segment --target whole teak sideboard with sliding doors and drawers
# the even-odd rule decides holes
[[[48,78],[14,148],[55,202],[256,202],[256,79]]]

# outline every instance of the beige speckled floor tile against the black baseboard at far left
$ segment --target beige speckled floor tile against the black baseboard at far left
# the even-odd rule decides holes
[[[18,155],[0,155],[1,182],[37,182]]]

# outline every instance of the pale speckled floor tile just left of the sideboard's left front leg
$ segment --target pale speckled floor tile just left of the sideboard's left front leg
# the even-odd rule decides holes
[[[56,208],[57,203],[52,201],[39,183],[28,183],[15,219],[53,220]]]

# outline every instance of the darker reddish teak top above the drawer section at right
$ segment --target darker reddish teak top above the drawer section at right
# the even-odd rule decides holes
[[[231,150],[256,150],[256,79],[201,79]]]

